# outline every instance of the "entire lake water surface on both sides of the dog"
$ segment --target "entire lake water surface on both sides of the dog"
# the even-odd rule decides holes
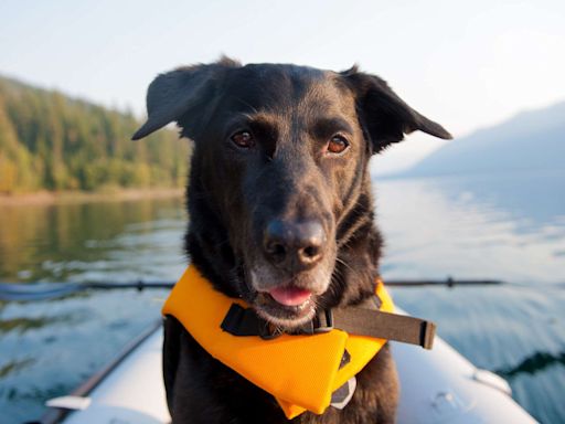
[[[511,384],[543,423],[565,422],[565,172],[377,180],[386,278],[511,284],[396,288],[396,303]],[[0,280],[175,279],[181,199],[0,206]],[[0,423],[38,418],[159,318],[164,290],[0,303]]]

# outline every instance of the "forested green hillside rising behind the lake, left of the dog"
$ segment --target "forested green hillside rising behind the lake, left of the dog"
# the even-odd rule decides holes
[[[181,187],[190,144],[131,114],[0,77],[0,193]]]

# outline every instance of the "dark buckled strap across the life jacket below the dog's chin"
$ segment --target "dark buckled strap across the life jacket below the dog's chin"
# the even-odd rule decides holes
[[[258,317],[253,309],[237,304],[231,306],[221,327],[233,336],[259,336],[263,339],[273,339],[285,332]],[[363,307],[326,310],[291,333],[316,335],[333,328],[350,335],[418,344],[424,349],[431,349],[436,333],[436,325],[431,321]]]

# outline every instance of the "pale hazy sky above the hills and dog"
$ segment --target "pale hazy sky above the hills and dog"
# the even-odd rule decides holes
[[[0,2],[0,74],[139,116],[159,72],[222,53],[359,63],[463,136],[565,99],[565,1]],[[379,163],[405,166],[440,145],[413,135]]]

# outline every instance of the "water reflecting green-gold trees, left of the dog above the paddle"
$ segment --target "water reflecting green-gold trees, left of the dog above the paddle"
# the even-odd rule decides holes
[[[164,267],[171,256],[180,262],[181,199],[3,206],[0,212],[4,282],[125,280],[170,275]]]

